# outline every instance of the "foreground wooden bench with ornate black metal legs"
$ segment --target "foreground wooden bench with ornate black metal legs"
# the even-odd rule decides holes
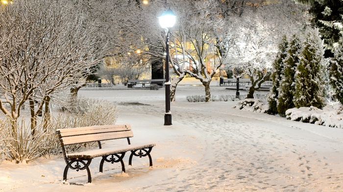
[[[102,172],[103,163],[118,163],[122,164],[122,171],[125,172],[123,157],[127,151],[130,151],[129,165],[132,165],[132,157],[146,157],[149,158],[149,166],[152,166],[150,151],[155,144],[131,144],[130,137],[133,137],[131,126],[129,124],[123,125],[98,125],[89,127],[77,127],[56,130],[58,134],[64,160],[67,164],[63,173],[63,180],[67,181],[68,169],[76,171],[87,170],[88,183],[92,182],[91,171],[89,165],[96,157],[101,157],[99,171]],[[108,148],[102,148],[101,141],[126,139],[125,144],[115,145]],[[71,144],[85,144],[90,142],[97,142],[99,148],[90,149],[81,152],[70,152],[66,146]]]

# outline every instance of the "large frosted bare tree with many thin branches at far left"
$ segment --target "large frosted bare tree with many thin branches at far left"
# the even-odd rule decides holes
[[[10,105],[1,100],[0,110],[16,121],[28,102],[33,134],[52,94],[82,84],[98,63],[95,28],[49,0],[15,1],[0,15],[1,97]]]

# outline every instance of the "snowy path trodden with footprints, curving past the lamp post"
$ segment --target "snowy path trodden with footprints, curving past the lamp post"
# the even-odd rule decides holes
[[[118,107],[123,116],[163,117],[162,104]],[[173,103],[172,113],[173,121],[203,134],[194,149],[202,156],[192,166],[180,162],[146,191],[343,191],[343,166],[337,165],[342,143],[307,132],[304,123],[249,117],[251,112],[231,108],[218,112],[200,103]]]

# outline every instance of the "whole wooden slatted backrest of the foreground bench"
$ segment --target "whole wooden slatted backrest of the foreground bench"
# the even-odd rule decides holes
[[[58,129],[56,133],[62,145],[133,137],[128,124]]]

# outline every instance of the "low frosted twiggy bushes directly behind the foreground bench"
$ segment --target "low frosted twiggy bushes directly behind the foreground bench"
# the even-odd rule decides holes
[[[114,103],[106,100],[78,98],[77,113],[60,113],[51,118],[46,124],[37,120],[35,134],[32,135],[30,125],[25,120],[12,127],[11,119],[0,120],[0,160],[15,161],[16,163],[34,161],[39,157],[59,155],[61,152],[56,129],[114,124],[118,117],[118,110]],[[89,144],[93,147],[97,144]],[[72,145],[71,151],[83,149],[85,145]]]

